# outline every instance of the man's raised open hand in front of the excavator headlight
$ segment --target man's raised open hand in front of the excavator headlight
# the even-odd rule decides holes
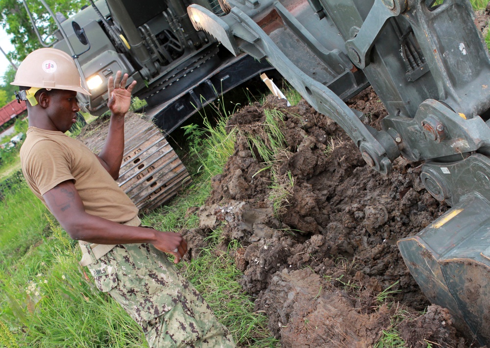
[[[107,81],[107,92],[109,95],[107,106],[113,115],[124,115],[127,113],[131,105],[131,92],[136,86],[136,81],[133,81],[125,88],[128,74],[124,74],[123,79],[121,79],[121,74],[121,71],[118,71],[115,79],[110,76]]]

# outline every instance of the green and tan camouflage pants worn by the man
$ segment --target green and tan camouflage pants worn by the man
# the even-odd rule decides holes
[[[235,347],[194,286],[151,244],[117,245],[88,267],[98,289],[141,325],[151,348]]]

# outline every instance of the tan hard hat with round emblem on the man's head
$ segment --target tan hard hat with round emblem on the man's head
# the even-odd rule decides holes
[[[91,95],[81,86],[80,74],[73,58],[56,48],[40,48],[29,53],[19,66],[11,85]]]

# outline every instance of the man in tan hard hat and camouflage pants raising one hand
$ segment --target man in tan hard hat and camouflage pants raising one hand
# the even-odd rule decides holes
[[[64,133],[76,121],[80,84],[72,57],[54,48],[30,53],[12,83],[27,100],[29,129],[22,170],[34,194],[80,242],[82,260],[99,290],[108,292],[143,328],[150,347],[234,347],[228,330],[164,253],[187,252],[180,233],[141,227],[138,209],[115,180],[123,159],[124,115],[131,92],[121,71],[108,82],[110,126],[93,154]]]

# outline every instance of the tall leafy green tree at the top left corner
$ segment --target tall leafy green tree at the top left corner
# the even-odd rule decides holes
[[[69,17],[77,12],[87,0],[46,0],[51,10],[61,12]],[[48,11],[38,0],[27,1],[32,13],[36,26],[41,37],[53,42],[51,34],[56,30],[56,24],[50,18]],[[9,52],[8,56],[17,62],[21,62],[27,54],[36,48],[40,48],[34,28],[29,20],[27,11],[22,3],[18,0],[0,0],[0,25],[5,29],[7,34],[12,35],[11,43],[15,47],[14,52]]]

